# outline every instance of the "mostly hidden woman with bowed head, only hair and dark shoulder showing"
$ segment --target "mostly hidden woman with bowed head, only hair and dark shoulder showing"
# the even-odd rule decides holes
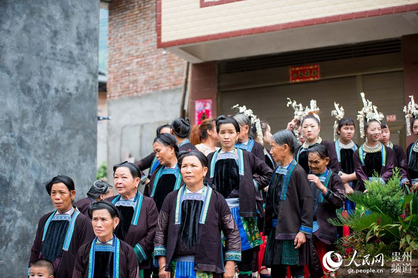
[[[74,202],[74,205],[86,216],[89,216],[89,206],[93,201],[100,201],[113,196],[113,186],[103,180],[96,180],[91,185],[87,198]]]

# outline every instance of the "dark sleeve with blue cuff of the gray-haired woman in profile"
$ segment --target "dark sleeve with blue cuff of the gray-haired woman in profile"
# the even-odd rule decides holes
[[[298,165],[299,166],[299,165]],[[300,228],[299,232],[312,235],[313,221],[313,201],[312,191],[309,185],[308,177],[305,171],[299,166],[294,170],[294,181],[298,191],[299,208],[300,208]]]

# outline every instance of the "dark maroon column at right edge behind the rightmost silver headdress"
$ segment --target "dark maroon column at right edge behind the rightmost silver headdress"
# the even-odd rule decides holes
[[[418,101],[418,34],[402,37],[402,62],[404,73],[405,105],[414,96]],[[416,140],[414,135],[406,137],[406,146]]]

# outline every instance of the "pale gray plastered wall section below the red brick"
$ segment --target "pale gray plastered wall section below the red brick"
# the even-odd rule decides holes
[[[155,129],[179,117],[181,88],[137,97],[108,100],[108,180],[113,184],[113,165],[135,161],[152,152]]]

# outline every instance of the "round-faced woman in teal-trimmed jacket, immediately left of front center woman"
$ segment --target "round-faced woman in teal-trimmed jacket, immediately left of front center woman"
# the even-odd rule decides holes
[[[120,224],[116,236],[129,244],[139,261],[140,275],[151,275],[151,253],[157,227],[158,211],[155,202],[143,196],[139,190],[140,170],[130,162],[123,162],[113,167],[115,188],[119,195],[108,198],[119,211]]]

